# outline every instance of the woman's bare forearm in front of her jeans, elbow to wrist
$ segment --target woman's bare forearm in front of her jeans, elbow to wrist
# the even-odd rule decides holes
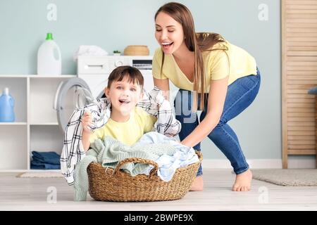
[[[206,115],[203,121],[181,143],[185,146],[194,147],[208,136],[219,123],[218,117]]]

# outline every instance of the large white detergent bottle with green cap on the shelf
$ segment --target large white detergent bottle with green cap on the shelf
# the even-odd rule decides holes
[[[46,40],[37,51],[37,74],[61,75],[61,50],[51,33],[46,34]]]

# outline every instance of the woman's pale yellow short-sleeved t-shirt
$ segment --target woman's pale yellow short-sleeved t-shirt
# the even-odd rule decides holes
[[[224,48],[228,50],[223,50]],[[256,75],[256,60],[244,49],[228,41],[215,44],[213,49],[215,50],[202,53],[206,68],[206,93],[209,92],[211,80],[223,79],[229,75],[228,85],[230,85],[241,77]],[[161,74],[162,55],[161,48],[156,49],[152,65],[153,77],[170,79],[178,88],[193,91],[193,82],[190,82],[180,70],[172,54],[165,55]]]

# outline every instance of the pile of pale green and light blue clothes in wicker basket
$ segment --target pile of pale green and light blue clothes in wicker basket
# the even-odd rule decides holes
[[[174,139],[157,132],[144,134],[135,146],[127,146],[110,136],[106,136],[104,141],[97,139],[87,152],[87,156],[75,167],[75,200],[86,200],[89,188],[87,167],[91,162],[115,168],[119,161],[126,158],[143,158],[158,162],[158,176],[164,181],[173,178],[175,169],[199,162],[192,148],[183,146]],[[130,162],[123,165],[121,169],[131,176],[136,176],[137,174],[147,174],[151,170],[151,166]]]

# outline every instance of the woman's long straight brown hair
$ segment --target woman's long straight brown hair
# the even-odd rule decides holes
[[[219,42],[225,42],[225,39],[221,37],[220,34],[216,33],[196,33],[194,29],[194,20],[192,18],[192,13],[189,9],[177,2],[170,2],[159,8],[156,12],[154,20],[156,20],[157,15],[160,12],[170,15],[174,20],[182,25],[185,36],[185,44],[189,51],[194,51],[194,110],[197,110],[198,93],[200,95],[200,109],[204,110],[205,91],[206,91],[206,76],[204,61],[201,55],[202,51],[211,51],[213,46]],[[223,50],[228,50],[226,47],[220,48]],[[164,53],[162,57],[161,73],[163,70],[164,63]]]

